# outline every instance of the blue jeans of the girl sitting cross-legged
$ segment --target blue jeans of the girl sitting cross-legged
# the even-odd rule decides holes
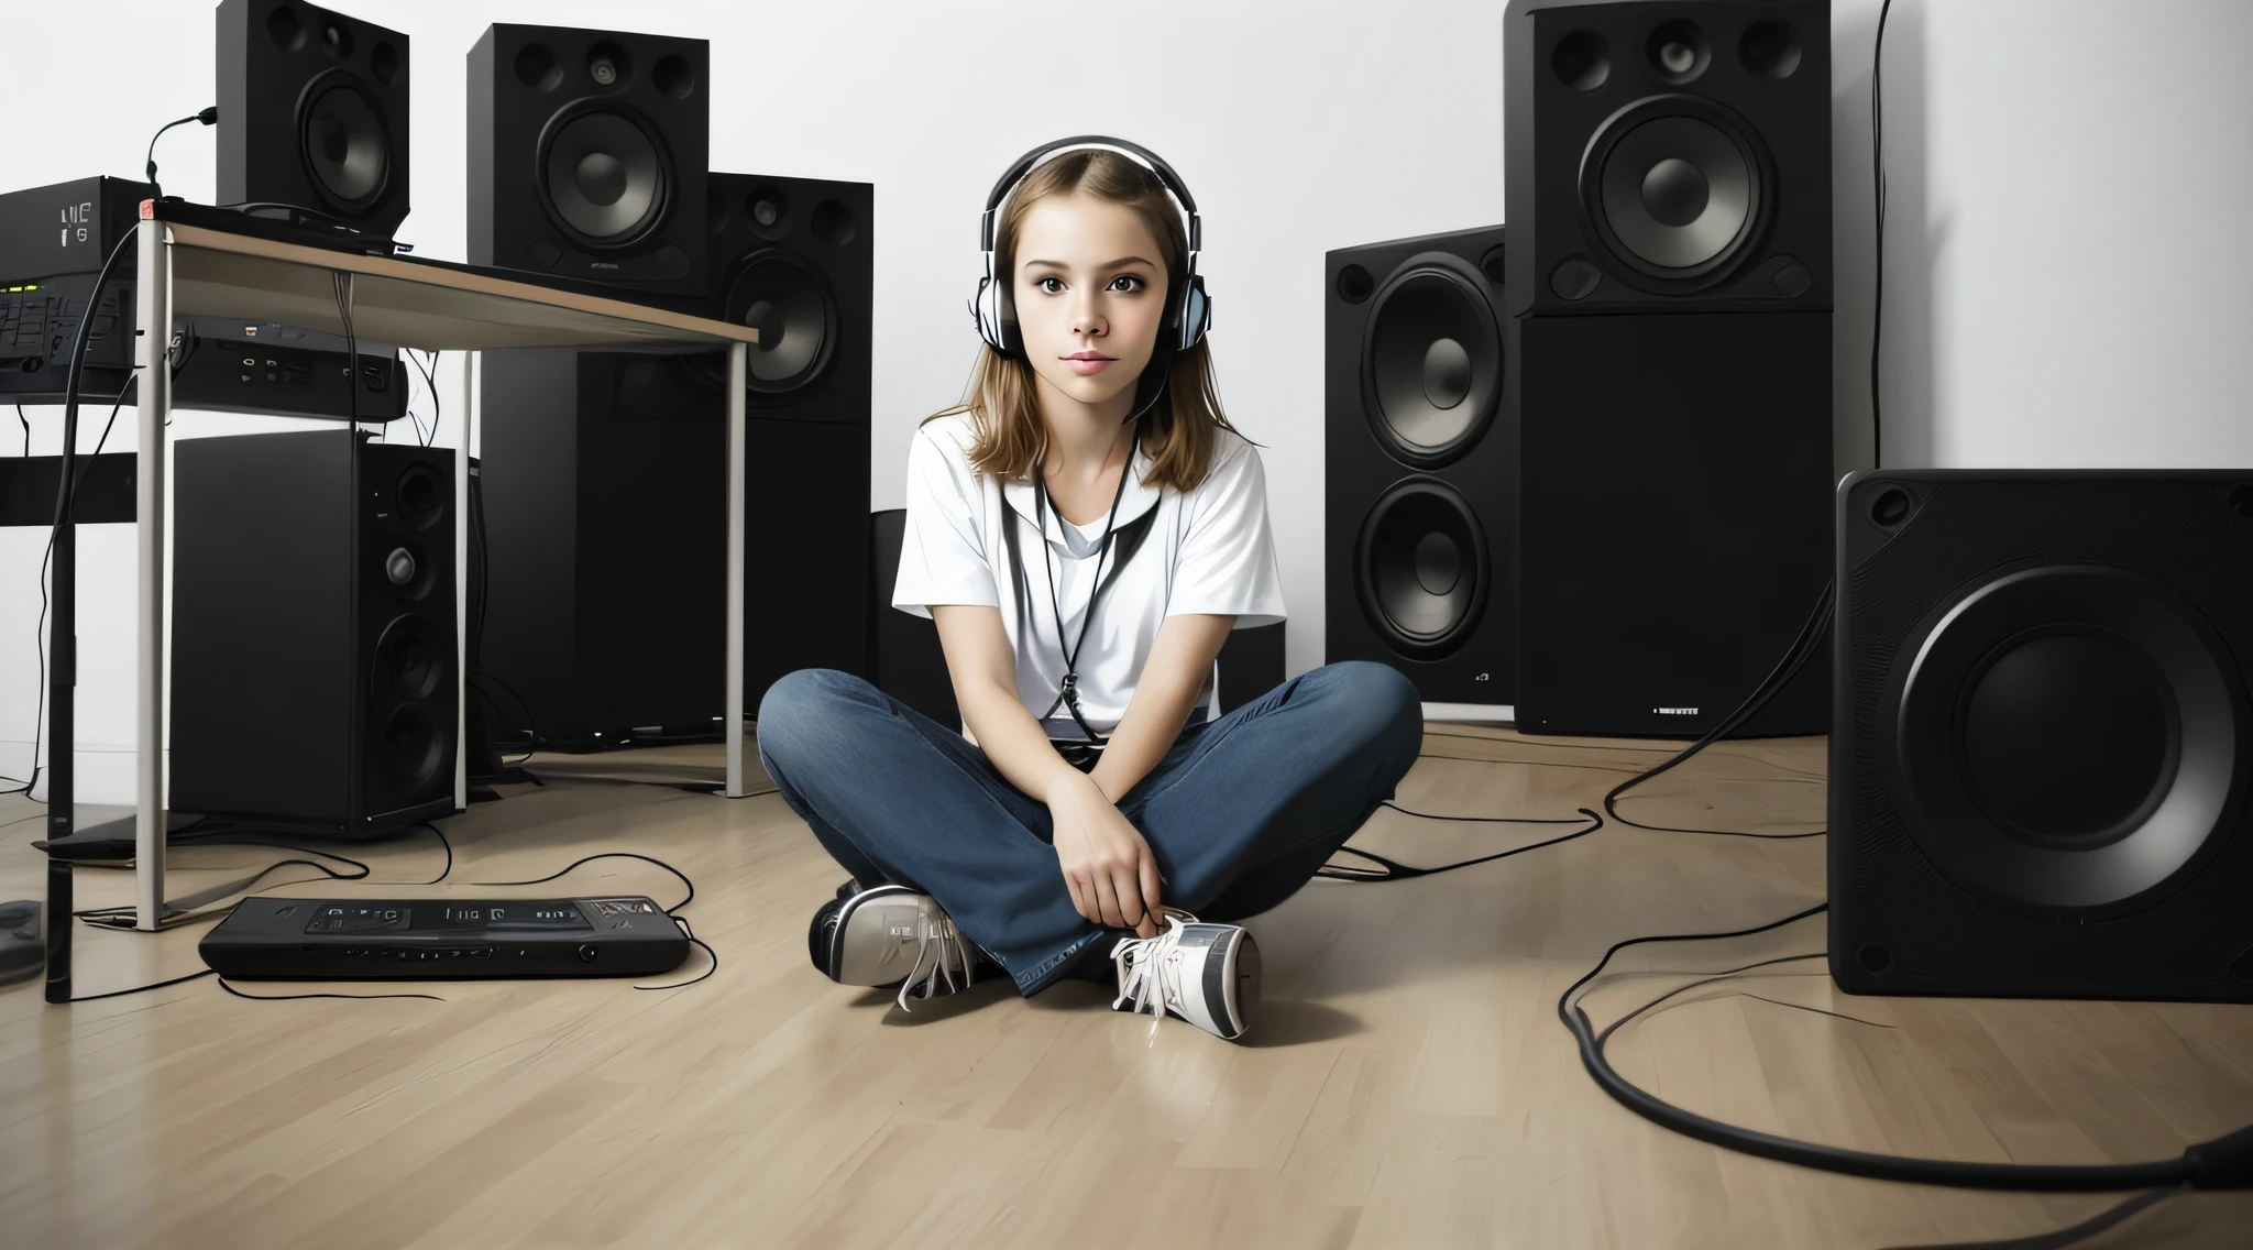
[[[1392,797],[1422,734],[1399,671],[1327,664],[1185,725],[1117,809],[1149,842],[1167,905],[1235,921],[1307,885]],[[1072,908],[1048,806],[870,682],[834,669],[777,680],[759,700],[759,759],[854,881],[937,899],[1018,993],[1039,993],[1104,937]]]

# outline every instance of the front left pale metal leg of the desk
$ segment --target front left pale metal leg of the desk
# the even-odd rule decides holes
[[[171,414],[171,232],[160,221],[140,230],[135,322],[140,340],[140,446],[135,450],[140,518],[140,716],[133,736],[133,928],[155,930],[164,912],[164,419]],[[70,743],[54,743],[70,750]],[[47,923],[70,923],[50,917]]]

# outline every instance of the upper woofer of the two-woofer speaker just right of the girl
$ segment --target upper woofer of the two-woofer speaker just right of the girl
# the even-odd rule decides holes
[[[1503,396],[1503,331],[1476,270],[1437,252],[1395,270],[1370,309],[1361,392],[1377,439],[1408,464],[1471,450]]]

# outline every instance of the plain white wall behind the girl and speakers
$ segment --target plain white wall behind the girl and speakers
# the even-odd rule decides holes
[[[356,0],[415,38],[419,255],[462,257],[462,56],[493,20],[712,41],[712,164],[876,182],[872,495],[897,507],[912,423],[951,403],[976,338],[976,218],[1009,158],[1068,133],[1165,153],[1205,214],[1214,358],[1266,444],[1291,606],[1289,664],[1323,658],[1323,252],[1487,225],[1503,212],[1496,0]],[[137,176],[162,119],[212,101],[212,11],[178,0],[9,14],[9,88],[43,101],[0,185]],[[1838,468],[1868,464],[1870,41],[1834,9]],[[1194,29],[1196,34],[1183,34]],[[1899,0],[1886,32],[1888,464],[2253,464],[2253,5]],[[212,194],[212,131],[158,153]],[[439,378],[457,394],[451,369]],[[417,403],[421,410],[421,403]],[[448,405],[439,441],[453,439]],[[0,453],[16,450],[14,414]],[[110,448],[131,448],[119,417]],[[180,414],[180,437],[275,428]],[[99,412],[83,432],[92,446]],[[59,448],[34,412],[34,450]],[[0,773],[34,725],[43,532],[0,529]],[[122,800],[133,543],[81,529],[81,793]]]

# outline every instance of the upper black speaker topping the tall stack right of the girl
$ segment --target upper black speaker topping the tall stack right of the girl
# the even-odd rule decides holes
[[[1510,0],[1510,311],[1832,306],[1827,0]]]

